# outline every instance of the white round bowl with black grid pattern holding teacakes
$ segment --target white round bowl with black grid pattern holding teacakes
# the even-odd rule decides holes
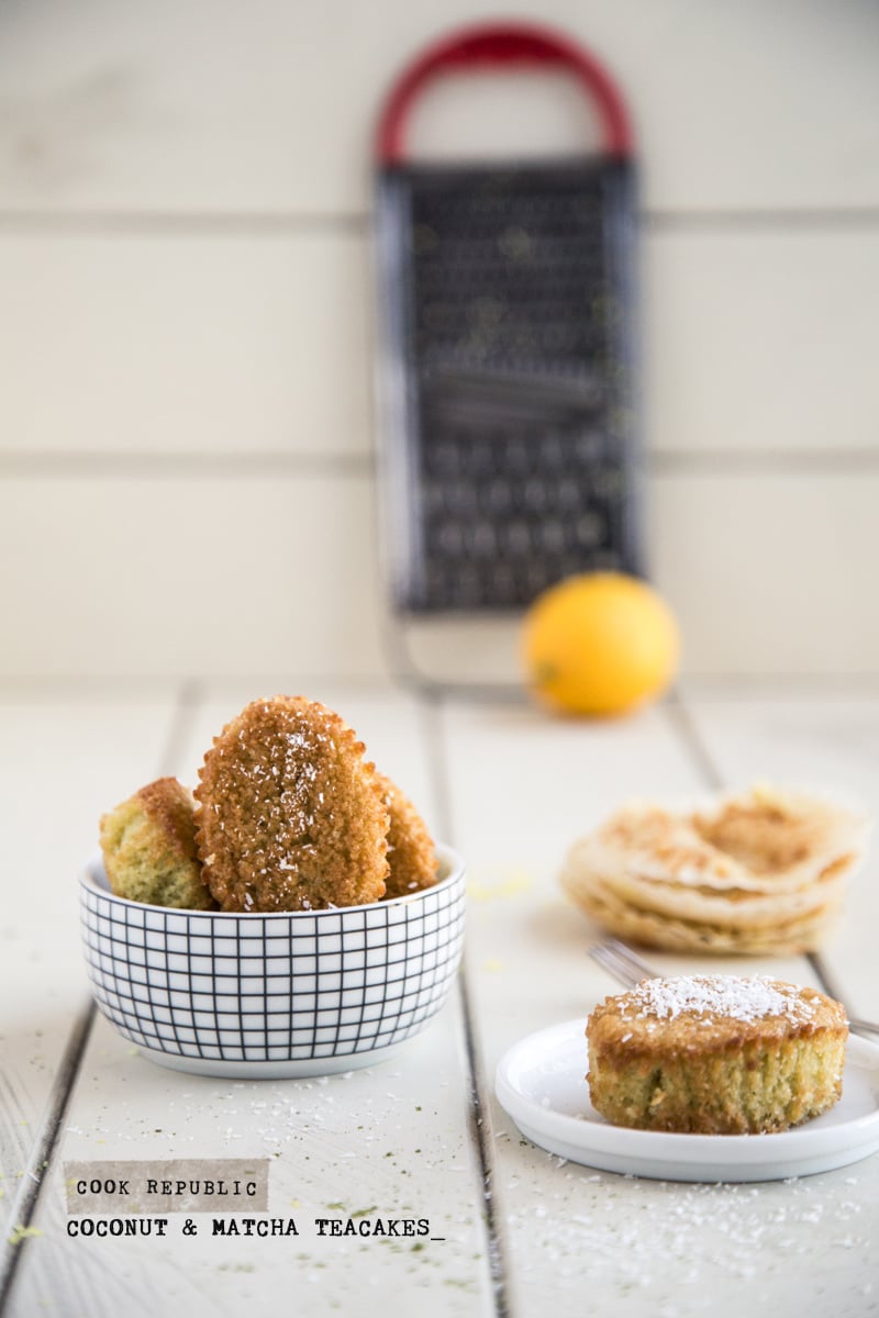
[[[80,920],[99,1010],[153,1061],[229,1077],[326,1075],[383,1061],[445,1002],[465,874],[438,846],[432,888],[331,911],[231,915],[115,896],[100,854]]]

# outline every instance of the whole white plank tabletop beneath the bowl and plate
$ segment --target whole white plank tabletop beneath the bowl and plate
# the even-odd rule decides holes
[[[90,1008],[76,873],[100,813],[165,772],[192,782],[257,695],[337,708],[469,866],[459,992],[398,1057],[326,1081],[232,1082],[152,1065]],[[693,685],[623,722],[290,679],[0,689],[0,1191],[9,1318],[340,1313],[613,1318],[879,1309],[879,1159],[759,1185],[561,1164],[522,1140],[492,1077],[510,1044],[617,986],[557,884],[569,842],[635,795],[755,778],[879,805],[879,689]],[[851,891],[825,963],[879,1017],[879,878]],[[656,956],[660,967],[741,969]],[[817,982],[807,958],[749,961]],[[70,1238],[65,1164],[269,1159],[269,1215],[298,1235]],[[318,1218],[426,1218],[430,1238],[328,1238]]]

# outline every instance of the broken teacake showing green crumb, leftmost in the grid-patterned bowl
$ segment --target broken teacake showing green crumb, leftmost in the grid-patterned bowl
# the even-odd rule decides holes
[[[191,911],[215,907],[195,847],[192,793],[175,778],[141,787],[104,815],[100,847],[117,896]]]

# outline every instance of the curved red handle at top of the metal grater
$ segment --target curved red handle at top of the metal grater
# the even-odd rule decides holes
[[[563,67],[575,74],[594,100],[609,156],[627,157],[633,133],[623,100],[601,63],[559,33],[521,24],[467,28],[428,46],[393,86],[378,123],[377,149],[383,165],[401,165],[406,152],[406,117],[415,96],[435,74],[461,69],[509,66]]]

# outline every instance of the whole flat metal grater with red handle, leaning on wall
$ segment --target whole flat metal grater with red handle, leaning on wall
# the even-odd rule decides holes
[[[601,152],[410,161],[436,75],[563,69]],[[395,618],[517,616],[573,572],[638,572],[635,178],[622,100],[582,47],[468,29],[393,87],[377,140],[381,465]]]

